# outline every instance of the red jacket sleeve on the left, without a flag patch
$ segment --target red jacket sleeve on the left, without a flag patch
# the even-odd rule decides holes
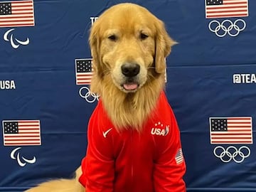
[[[114,160],[111,139],[103,137],[98,120],[93,115],[89,122],[87,138],[87,154],[82,160],[82,176],[79,181],[87,192],[112,192]]]

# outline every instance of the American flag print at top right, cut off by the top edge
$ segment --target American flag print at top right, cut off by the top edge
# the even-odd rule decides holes
[[[248,0],[206,0],[206,18],[248,16]]]

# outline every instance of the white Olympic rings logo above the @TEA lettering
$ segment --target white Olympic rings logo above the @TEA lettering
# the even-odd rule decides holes
[[[233,23],[232,21],[226,19],[221,23],[219,21],[213,20],[210,21],[208,28],[211,32],[215,33],[216,36],[222,38],[225,35],[230,35],[232,37],[238,36],[241,31],[246,27],[245,21],[242,19],[237,19]]]

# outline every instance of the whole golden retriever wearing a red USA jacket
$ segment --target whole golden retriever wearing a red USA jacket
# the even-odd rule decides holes
[[[107,9],[90,31],[100,101],[88,124],[88,146],[73,179],[26,192],[183,192],[180,134],[165,93],[166,56],[176,44],[164,23],[137,4]]]

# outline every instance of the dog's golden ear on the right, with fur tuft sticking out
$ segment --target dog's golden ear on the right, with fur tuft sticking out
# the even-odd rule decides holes
[[[171,46],[176,44],[168,33],[164,23],[157,19],[156,21],[156,48],[155,48],[155,68],[156,73],[165,73],[166,70],[166,57],[171,53]]]

